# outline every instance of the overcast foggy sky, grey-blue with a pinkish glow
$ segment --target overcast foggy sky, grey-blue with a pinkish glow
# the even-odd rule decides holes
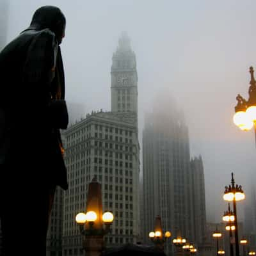
[[[248,99],[249,67],[256,69],[255,0],[8,1],[8,41],[28,27],[36,8],[61,8],[66,98],[86,112],[110,110],[111,58],[127,31],[137,60],[140,133],[154,95],[172,94],[184,109],[191,157],[204,161],[208,221],[221,221],[227,209],[222,195],[231,172],[245,192],[256,182],[253,131],[232,123],[236,95]]]

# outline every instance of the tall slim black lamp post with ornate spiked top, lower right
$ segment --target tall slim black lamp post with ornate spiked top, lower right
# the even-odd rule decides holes
[[[242,186],[235,186],[234,173],[231,173],[231,185],[225,186],[225,192],[223,199],[225,201],[233,202],[234,211],[234,224],[235,224],[235,243],[236,243],[236,256],[239,256],[239,241],[238,241],[238,226],[237,226],[237,212],[236,212],[236,202],[244,200],[245,195]]]

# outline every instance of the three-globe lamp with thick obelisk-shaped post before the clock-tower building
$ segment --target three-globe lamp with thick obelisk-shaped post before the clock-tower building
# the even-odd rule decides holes
[[[76,222],[85,238],[85,254],[99,256],[104,250],[104,236],[108,234],[114,216],[109,211],[102,214],[101,186],[95,177],[89,184],[86,210],[86,213],[79,212],[76,215]]]

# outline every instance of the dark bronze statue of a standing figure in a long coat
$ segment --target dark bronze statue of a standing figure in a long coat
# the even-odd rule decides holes
[[[19,255],[45,255],[56,186],[68,189],[60,136],[60,129],[68,125],[60,51],[65,24],[59,8],[42,6],[30,26],[0,52],[0,216],[5,256],[17,255],[15,249]]]

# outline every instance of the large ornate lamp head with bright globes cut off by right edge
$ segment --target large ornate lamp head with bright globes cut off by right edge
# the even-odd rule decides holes
[[[249,131],[254,126],[256,147],[256,81],[253,72],[253,67],[250,67],[249,99],[247,101],[240,94],[237,95],[233,121],[243,131]]]

